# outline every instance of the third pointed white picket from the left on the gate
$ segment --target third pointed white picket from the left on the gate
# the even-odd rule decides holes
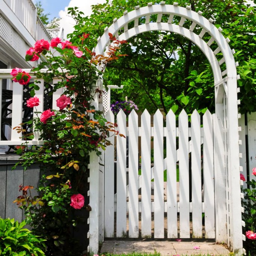
[[[129,114],[129,237],[139,237],[138,199],[138,115],[135,110]]]

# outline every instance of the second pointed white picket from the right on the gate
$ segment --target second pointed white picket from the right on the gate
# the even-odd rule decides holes
[[[201,187],[201,129],[200,115],[194,110],[191,115],[191,177],[192,177],[192,227],[193,238],[201,238],[202,232],[202,187]]]

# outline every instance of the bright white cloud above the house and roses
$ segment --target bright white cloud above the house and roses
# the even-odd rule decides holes
[[[91,6],[97,3],[105,3],[105,0],[71,0],[65,10],[59,12],[60,25],[64,28],[64,38],[67,38],[67,34],[72,33],[75,25],[73,18],[68,16],[68,7],[78,7],[85,16],[90,16],[92,13]]]

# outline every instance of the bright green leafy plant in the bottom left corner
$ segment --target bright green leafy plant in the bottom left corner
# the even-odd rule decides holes
[[[24,228],[25,221],[0,218],[0,255],[44,256],[44,239]]]

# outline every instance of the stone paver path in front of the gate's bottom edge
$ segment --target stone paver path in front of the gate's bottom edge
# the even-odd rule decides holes
[[[199,248],[199,249],[198,249]],[[162,256],[173,255],[229,255],[229,250],[214,242],[197,241],[155,241],[155,240],[106,240],[102,244],[101,253],[132,253],[132,252],[154,252]]]

